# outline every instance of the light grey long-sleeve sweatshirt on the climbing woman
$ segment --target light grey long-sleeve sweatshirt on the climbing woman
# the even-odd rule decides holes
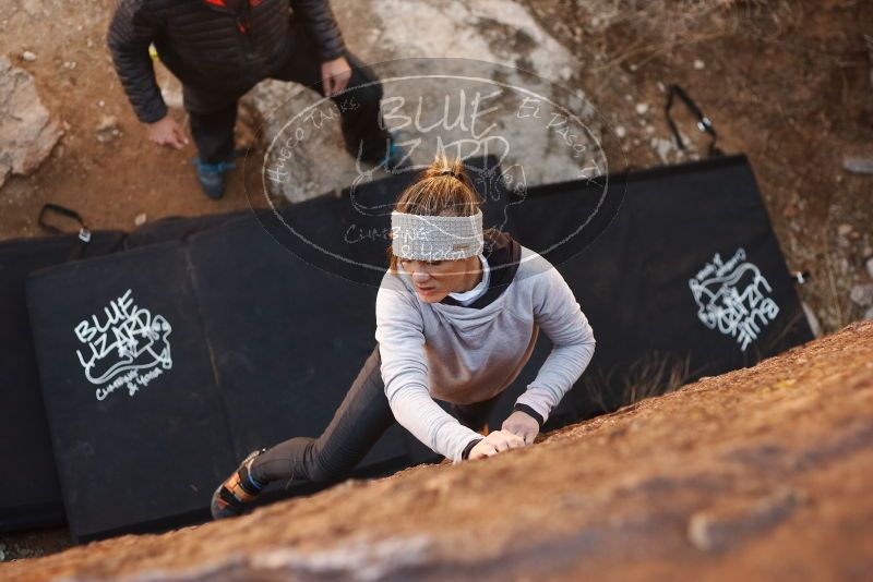
[[[512,282],[482,308],[422,302],[399,269],[383,277],[375,316],[382,379],[395,419],[454,462],[481,435],[433,398],[467,404],[503,391],[530,359],[542,329],[554,349],[516,403],[545,421],[594,355],[594,332],[570,287],[546,258],[524,246]]]

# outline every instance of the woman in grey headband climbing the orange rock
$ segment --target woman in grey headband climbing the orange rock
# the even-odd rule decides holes
[[[534,442],[587,367],[594,332],[548,260],[505,233],[482,232],[479,206],[459,160],[438,159],[403,192],[373,353],[319,438],[253,451],[218,486],[215,519],[240,514],[272,481],[344,478],[395,421],[456,463]],[[554,349],[501,429],[483,437],[476,429],[527,363],[539,329]],[[456,417],[433,398],[452,403]]]

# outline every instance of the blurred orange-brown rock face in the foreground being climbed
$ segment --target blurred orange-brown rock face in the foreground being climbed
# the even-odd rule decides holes
[[[0,566],[37,580],[870,580],[873,323],[458,465]]]

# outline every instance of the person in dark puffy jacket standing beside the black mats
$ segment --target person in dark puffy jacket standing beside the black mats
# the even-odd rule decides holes
[[[340,110],[351,155],[388,170],[404,161],[381,124],[382,86],[346,48],[327,0],[120,0],[107,41],[148,140],[177,149],[188,138],[167,114],[150,45],[182,82],[198,179],[211,198],[222,197],[235,167],[237,102],[267,77],[320,85]]]

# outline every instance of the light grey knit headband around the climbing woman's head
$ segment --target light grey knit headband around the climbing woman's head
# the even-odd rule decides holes
[[[421,216],[391,213],[394,256],[411,260],[457,260],[485,247],[482,211],[473,216]]]

